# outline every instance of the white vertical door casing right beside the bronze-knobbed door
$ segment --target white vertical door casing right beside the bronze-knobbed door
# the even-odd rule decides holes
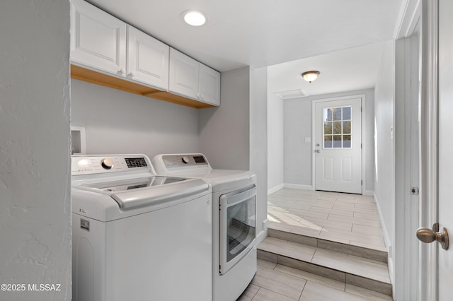
[[[438,2],[421,1],[420,227],[438,220]],[[420,300],[437,300],[437,244],[420,243]]]

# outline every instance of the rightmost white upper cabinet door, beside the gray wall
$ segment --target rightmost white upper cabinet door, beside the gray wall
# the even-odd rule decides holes
[[[220,73],[200,64],[200,100],[220,105]]]

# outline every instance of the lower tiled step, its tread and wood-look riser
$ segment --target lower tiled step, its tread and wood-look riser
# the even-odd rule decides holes
[[[306,239],[306,237],[291,238]],[[391,295],[386,262],[332,251],[319,247],[317,242],[316,247],[313,244],[314,242],[304,244],[304,242],[266,237],[258,245],[258,259]],[[328,242],[326,246],[332,247]]]

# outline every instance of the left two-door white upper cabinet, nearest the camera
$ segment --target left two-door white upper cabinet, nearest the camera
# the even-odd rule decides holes
[[[84,0],[71,18],[72,64],[168,90],[168,45]]]

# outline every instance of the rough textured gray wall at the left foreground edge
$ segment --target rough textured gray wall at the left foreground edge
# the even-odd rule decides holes
[[[0,299],[70,300],[69,1],[2,1],[0,37]]]

